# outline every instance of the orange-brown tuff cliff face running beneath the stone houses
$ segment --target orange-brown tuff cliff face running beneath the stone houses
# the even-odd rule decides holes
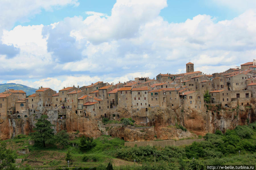
[[[79,114],[67,114],[66,119],[58,119],[58,115],[48,112],[49,120],[54,124],[55,132],[67,130],[69,133],[79,131],[79,135],[88,137],[99,137],[100,135],[111,135],[112,137],[123,138],[126,141],[147,141],[156,139],[179,139],[214,133],[219,129],[223,133],[227,129],[234,129],[237,125],[246,125],[256,121],[256,109],[239,106],[239,108],[224,108],[224,110],[200,111],[190,109],[160,109],[149,108],[147,112],[117,110],[116,114],[120,117],[113,117],[113,113],[108,113],[109,119],[120,120],[122,117],[131,117],[136,124],[148,127],[135,128],[130,125],[106,124],[101,120],[91,117],[79,116]],[[26,118],[17,118],[15,114],[0,118],[0,138],[2,140],[11,138],[15,135],[28,135],[33,132],[36,119],[40,115],[31,115]],[[147,119],[147,122],[143,120]],[[181,125],[187,129],[177,128]]]

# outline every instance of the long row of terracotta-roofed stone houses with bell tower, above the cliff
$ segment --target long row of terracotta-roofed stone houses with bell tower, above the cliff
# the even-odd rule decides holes
[[[0,118],[17,114],[17,118],[30,115],[58,114],[59,119],[77,114],[100,119],[107,114],[116,116],[117,110],[131,112],[151,107],[205,110],[204,94],[209,92],[211,103],[226,107],[237,104],[249,106],[255,98],[256,63],[247,62],[239,68],[230,68],[212,75],[194,71],[194,64],[186,64],[186,73],[159,74],[156,79],[137,77],[124,83],[109,84],[98,81],[83,87],[64,87],[58,93],[40,87],[26,97],[22,90],[7,89],[0,93]]]

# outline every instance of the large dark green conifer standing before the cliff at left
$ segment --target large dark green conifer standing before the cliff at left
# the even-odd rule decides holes
[[[53,125],[46,118],[47,115],[42,115],[40,119],[37,119],[36,127],[33,129],[35,132],[32,133],[32,139],[38,146],[43,145],[45,147],[46,144],[54,142],[54,129],[51,128]]]

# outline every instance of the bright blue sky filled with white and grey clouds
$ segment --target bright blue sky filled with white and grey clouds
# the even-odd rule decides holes
[[[0,83],[206,74],[253,61],[255,0],[0,0]]]

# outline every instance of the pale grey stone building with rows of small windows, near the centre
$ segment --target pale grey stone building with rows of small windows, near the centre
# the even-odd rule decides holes
[[[138,87],[132,89],[132,107],[137,108],[137,110],[141,108],[145,108],[148,106],[148,89],[150,87]]]

